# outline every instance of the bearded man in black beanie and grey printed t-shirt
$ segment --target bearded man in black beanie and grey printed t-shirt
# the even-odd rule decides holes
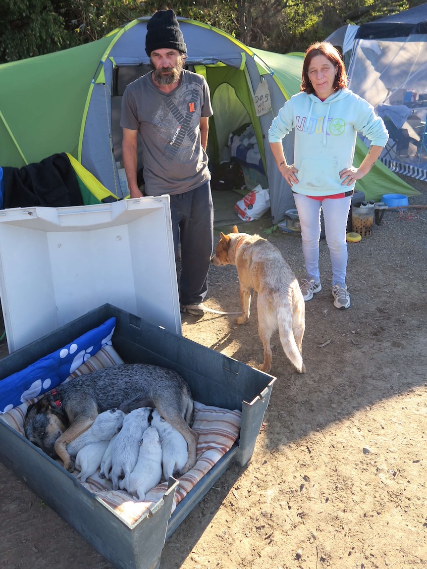
[[[147,23],[145,51],[153,71],[130,83],[122,99],[122,153],[130,197],[137,183],[137,138],[142,143],[144,194],[170,195],[181,273],[182,312],[203,315],[213,249],[213,205],[206,147],[212,116],[202,75],[187,71],[187,46],[173,10],[158,10]]]

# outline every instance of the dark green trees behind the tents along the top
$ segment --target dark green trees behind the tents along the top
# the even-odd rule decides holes
[[[0,63],[101,38],[134,18],[173,7],[249,47],[304,51],[346,23],[360,24],[425,0],[2,0]]]

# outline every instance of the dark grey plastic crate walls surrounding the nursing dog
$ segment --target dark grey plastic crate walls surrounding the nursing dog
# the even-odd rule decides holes
[[[117,320],[113,346],[123,360],[173,368],[185,378],[196,401],[241,411],[240,437],[233,447],[179,502],[172,515],[178,483],[170,479],[163,499],[133,526],[58,463],[3,423],[1,415],[0,460],[116,567],[155,569],[160,567],[165,539],[231,462],[244,465],[251,459],[276,378],[104,304],[0,360],[0,381],[112,316]]]

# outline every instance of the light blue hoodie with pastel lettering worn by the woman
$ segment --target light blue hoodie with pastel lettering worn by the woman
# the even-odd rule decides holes
[[[281,142],[292,129],[293,163],[298,170],[298,184],[292,190],[306,196],[329,196],[354,188],[354,184],[341,185],[339,172],[353,164],[358,131],[374,146],[384,147],[388,141],[383,119],[350,89],[340,89],[325,101],[305,92],[291,97],[273,119],[269,142]]]

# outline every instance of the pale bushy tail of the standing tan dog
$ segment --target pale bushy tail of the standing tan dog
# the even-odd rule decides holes
[[[283,351],[294,365],[298,373],[305,373],[305,365],[302,361],[302,337],[305,331],[304,311],[305,304],[301,295],[294,298],[292,308],[280,306],[277,310],[277,324],[280,342]]]

